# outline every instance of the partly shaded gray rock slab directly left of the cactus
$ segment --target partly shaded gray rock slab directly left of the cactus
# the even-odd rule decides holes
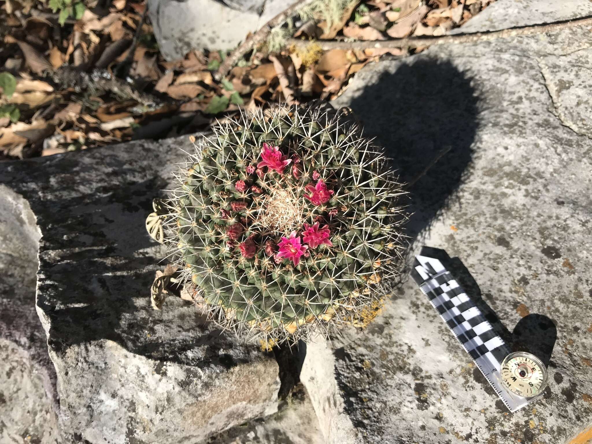
[[[165,250],[144,220],[184,160],[181,149],[192,149],[188,139],[0,163],[11,189],[1,205],[21,195],[37,219],[20,220],[21,231],[41,234],[37,312],[63,442],[193,444],[277,410],[271,353],[223,334],[179,298],[161,311],[150,305]]]

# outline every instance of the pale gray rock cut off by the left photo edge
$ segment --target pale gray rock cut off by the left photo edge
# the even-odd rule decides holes
[[[56,372],[35,310],[39,237],[27,201],[0,185],[0,442],[59,437]]]

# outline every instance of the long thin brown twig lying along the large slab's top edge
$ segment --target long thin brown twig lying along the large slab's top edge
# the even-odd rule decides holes
[[[422,46],[431,46],[446,43],[473,43],[475,41],[488,41],[495,38],[508,38],[515,36],[530,36],[532,34],[549,33],[567,28],[575,28],[580,26],[592,25],[592,17],[583,17],[575,20],[558,21],[548,24],[537,24],[529,26],[519,26],[514,28],[507,28],[499,31],[487,31],[484,33],[471,34],[453,34],[452,36],[438,36],[438,37],[407,37],[407,38],[391,38],[390,40],[359,40],[359,41],[343,41],[343,40],[315,40],[323,50],[330,49],[369,49],[369,48],[418,48]],[[287,46],[295,45],[306,47],[313,43],[308,40],[301,40],[298,38],[289,38]]]

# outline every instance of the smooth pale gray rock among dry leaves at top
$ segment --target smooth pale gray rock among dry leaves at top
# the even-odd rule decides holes
[[[168,60],[189,50],[229,50],[283,11],[282,0],[149,0],[160,52]]]

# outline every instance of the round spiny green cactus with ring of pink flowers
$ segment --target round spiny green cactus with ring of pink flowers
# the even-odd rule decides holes
[[[225,329],[275,343],[327,333],[398,274],[404,192],[361,128],[330,111],[219,123],[178,174],[166,242]]]

